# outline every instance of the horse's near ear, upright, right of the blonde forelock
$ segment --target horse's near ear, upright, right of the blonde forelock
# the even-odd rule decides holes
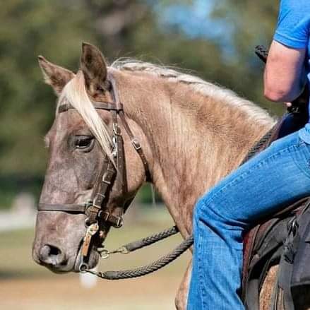
[[[85,76],[85,83],[90,93],[105,88],[107,81],[107,64],[105,57],[92,44],[82,44],[81,70]]]

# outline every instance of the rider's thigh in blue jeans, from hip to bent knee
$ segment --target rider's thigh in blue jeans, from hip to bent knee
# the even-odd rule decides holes
[[[275,141],[209,191],[202,213],[216,208],[223,221],[247,226],[309,195],[309,150],[298,133]]]

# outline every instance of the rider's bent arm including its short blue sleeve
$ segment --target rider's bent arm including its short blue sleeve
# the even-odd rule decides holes
[[[264,75],[265,96],[290,102],[306,82],[305,60],[309,45],[309,0],[281,0],[278,25]]]

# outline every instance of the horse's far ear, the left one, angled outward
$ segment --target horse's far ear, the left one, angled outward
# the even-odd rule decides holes
[[[38,56],[37,59],[42,69],[45,83],[51,85],[56,95],[59,95],[66,83],[74,78],[74,73],[61,66],[52,64],[43,56]]]

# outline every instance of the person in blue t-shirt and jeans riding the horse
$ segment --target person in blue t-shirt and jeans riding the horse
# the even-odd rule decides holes
[[[281,0],[264,75],[268,99],[292,102],[309,83],[309,32],[310,1]],[[187,309],[244,309],[240,299],[244,231],[309,195],[309,123],[272,143],[205,193],[193,214]]]

